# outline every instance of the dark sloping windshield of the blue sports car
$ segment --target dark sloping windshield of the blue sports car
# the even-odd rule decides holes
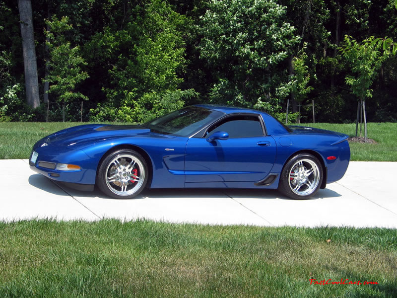
[[[223,115],[221,112],[190,106],[146,122],[142,126],[162,134],[188,137],[221,115]]]

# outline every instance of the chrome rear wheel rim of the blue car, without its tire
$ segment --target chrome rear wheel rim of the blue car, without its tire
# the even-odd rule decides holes
[[[320,168],[308,158],[297,160],[289,171],[289,187],[299,196],[311,195],[320,183]]]

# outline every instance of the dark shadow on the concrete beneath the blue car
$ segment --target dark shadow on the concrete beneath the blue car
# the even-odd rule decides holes
[[[70,188],[63,183],[53,181],[42,174],[29,176],[29,184],[48,193],[62,196],[100,198],[116,200],[104,195],[97,187],[93,191],[81,191]],[[320,189],[308,200],[335,198],[341,195],[330,189]],[[220,189],[220,188],[156,188],[145,189],[132,200],[137,199],[165,199],[165,198],[224,198],[231,199],[281,199],[292,200],[274,189]]]

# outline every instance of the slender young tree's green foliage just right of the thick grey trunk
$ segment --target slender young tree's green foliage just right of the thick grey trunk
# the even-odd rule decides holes
[[[51,20],[47,20],[49,30],[45,31],[50,54],[50,74],[45,81],[50,83],[49,92],[63,105],[79,99],[88,99],[81,92],[75,91],[76,85],[88,77],[88,74],[82,71],[82,67],[87,63],[80,56],[80,47],[72,47],[66,40],[66,33],[72,28],[68,21],[67,16],[58,19],[54,15]]]

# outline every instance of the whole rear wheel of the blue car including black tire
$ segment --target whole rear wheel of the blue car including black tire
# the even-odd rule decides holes
[[[299,153],[284,165],[278,190],[291,199],[303,200],[314,196],[323,181],[323,166],[316,156]]]

